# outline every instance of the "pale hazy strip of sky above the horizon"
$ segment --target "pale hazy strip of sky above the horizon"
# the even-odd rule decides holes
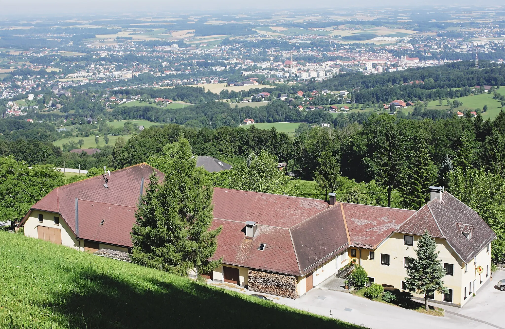
[[[0,0],[0,16],[4,18],[22,18],[23,15],[58,15],[74,14],[138,14],[141,12],[167,13],[167,12],[201,12],[201,11],[225,11],[225,12],[268,12],[287,10],[299,11],[310,8],[340,9],[353,7],[357,10],[367,8],[408,8],[414,2],[400,0],[273,0],[269,2],[253,2],[245,0]],[[419,4],[419,3],[418,3]],[[421,4],[428,10],[434,6],[472,6],[475,0],[424,0]],[[505,0],[486,0],[479,3],[483,6],[505,6]]]

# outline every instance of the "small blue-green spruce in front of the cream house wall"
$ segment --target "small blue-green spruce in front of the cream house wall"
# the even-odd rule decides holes
[[[409,267],[405,281],[407,289],[417,294],[424,294],[424,305],[428,310],[428,296],[437,292],[447,294],[449,291],[443,285],[442,277],[445,270],[442,261],[438,259],[439,251],[436,251],[436,244],[430,237],[428,230],[417,242],[416,258],[409,257]]]

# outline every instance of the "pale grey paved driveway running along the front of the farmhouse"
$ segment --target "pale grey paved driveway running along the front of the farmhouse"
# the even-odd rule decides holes
[[[505,325],[502,324],[504,321],[500,319],[505,306],[503,302],[505,301],[505,292],[493,288],[493,285],[501,278],[505,278],[505,271],[495,273],[491,283],[484,287],[464,308],[440,305],[450,312],[458,313],[446,312],[443,317],[370,301],[349,293],[317,288],[298,299],[262,295],[267,296],[275,303],[361,324],[372,329],[505,329]],[[211,280],[208,280],[208,283],[248,295],[255,294],[255,292],[233,284],[217,284]]]

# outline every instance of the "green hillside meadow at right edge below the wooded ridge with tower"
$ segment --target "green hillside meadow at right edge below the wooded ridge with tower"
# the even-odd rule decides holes
[[[505,87],[497,89],[496,92],[503,95],[505,93]],[[456,108],[456,111],[465,113],[467,110],[473,111],[475,109],[481,109],[484,105],[487,105],[487,111],[481,112],[482,117],[485,119],[494,119],[501,110],[501,101],[493,99],[493,93],[480,93],[479,95],[465,96],[460,98],[455,98],[450,100],[451,102],[458,100],[463,103],[462,106]],[[438,101],[431,101],[428,103],[428,108],[437,110],[448,110],[449,106],[447,101],[442,101],[442,106],[438,105]]]

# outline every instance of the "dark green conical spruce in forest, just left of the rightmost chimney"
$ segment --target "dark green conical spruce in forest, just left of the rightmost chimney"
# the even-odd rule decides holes
[[[417,210],[429,201],[429,187],[437,178],[437,168],[428,152],[423,136],[416,136],[409,152],[409,161],[401,173],[401,206]]]

